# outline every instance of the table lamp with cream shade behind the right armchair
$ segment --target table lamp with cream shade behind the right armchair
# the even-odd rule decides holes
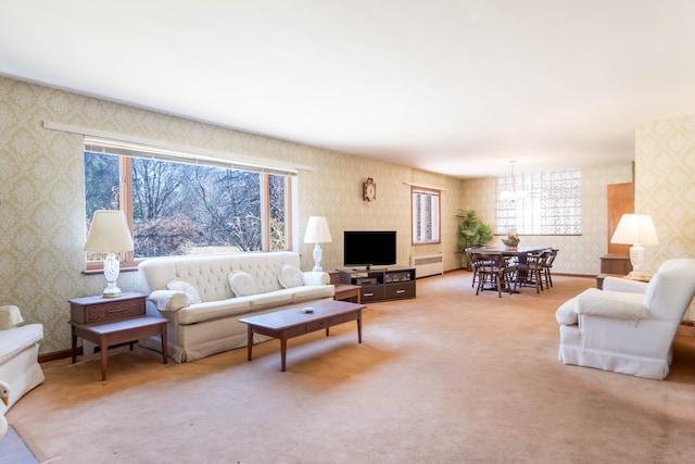
[[[628,278],[648,280],[649,276],[642,271],[644,264],[644,246],[659,244],[652,217],[647,214],[623,214],[610,238],[611,243],[632,244],[630,247],[630,263],[632,272]]]

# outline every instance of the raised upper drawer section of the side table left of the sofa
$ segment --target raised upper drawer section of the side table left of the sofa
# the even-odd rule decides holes
[[[144,315],[146,297],[126,299],[71,300],[71,319],[77,324],[94,324]]]

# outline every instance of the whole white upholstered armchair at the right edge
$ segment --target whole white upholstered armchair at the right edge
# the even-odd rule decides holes
[[[587,289],[555,313],[559,360],[662,379],[669,373],[673,338],[695,297],[695,260],[665,262],[648,284],[606,277],[603,290]]]

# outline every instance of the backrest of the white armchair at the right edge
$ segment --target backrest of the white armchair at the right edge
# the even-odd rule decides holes
[[[695,297],[695,260],[668,260],[652,277],[644,305],[654,318],[679,324]]]

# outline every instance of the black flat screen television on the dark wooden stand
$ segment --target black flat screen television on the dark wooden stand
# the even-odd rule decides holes
[[[396,264],[395,230],[344,230],[345,267],[390,266]]]

